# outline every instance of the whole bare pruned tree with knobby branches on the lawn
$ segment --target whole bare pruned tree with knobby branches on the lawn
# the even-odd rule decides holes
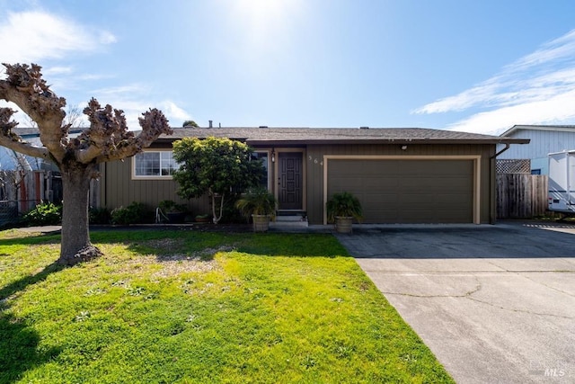
[[[90,242],[88,192],[90,181],[99,176],[102,162],[134,156],[162,133],[170,134],[164,113],[150,109],[142,113],[138,135],[129,131],[124,112],[102,107],[95,99],[84,109],[89,127],[77,138],[69,138],[66,99],[58,97],[42,79],[36,64],[4,64],[6,78],[0,80],[0,99],[18,105],[38,124],[43,147],[26,142],[13,131],[11,108],[0,108],[0,145],[24,155],[40,157],[57,165],[62,174],[64,210],[59,263],[75,264],[102,255]]]

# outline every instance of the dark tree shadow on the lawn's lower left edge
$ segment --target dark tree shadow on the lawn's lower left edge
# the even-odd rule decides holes
[[[61,351],[51,348],[38,351],[40,335],[22,318],[9,312],[7,299],[27,287],[44,281],[62,266],[51,263],[42,271],[13,281],[0,289],[0,382],[11,383],[22,378],[22,374],[33,367],[57,356]]]

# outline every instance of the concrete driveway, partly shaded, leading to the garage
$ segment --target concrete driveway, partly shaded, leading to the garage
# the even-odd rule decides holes
[[[458,383],[575,382],[575,226],[337,235]]]

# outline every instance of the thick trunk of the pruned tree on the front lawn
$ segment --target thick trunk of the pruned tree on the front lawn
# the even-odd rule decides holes
[[[90,242],[88,228],[88,194],[90,165],[61,166],[63,187],[62,244],[58,263],[74,265],[102,255]]]

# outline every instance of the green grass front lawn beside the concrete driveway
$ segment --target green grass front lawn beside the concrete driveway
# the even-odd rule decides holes
[[[334,237],[0,232],[0,382],[453,382]]]

